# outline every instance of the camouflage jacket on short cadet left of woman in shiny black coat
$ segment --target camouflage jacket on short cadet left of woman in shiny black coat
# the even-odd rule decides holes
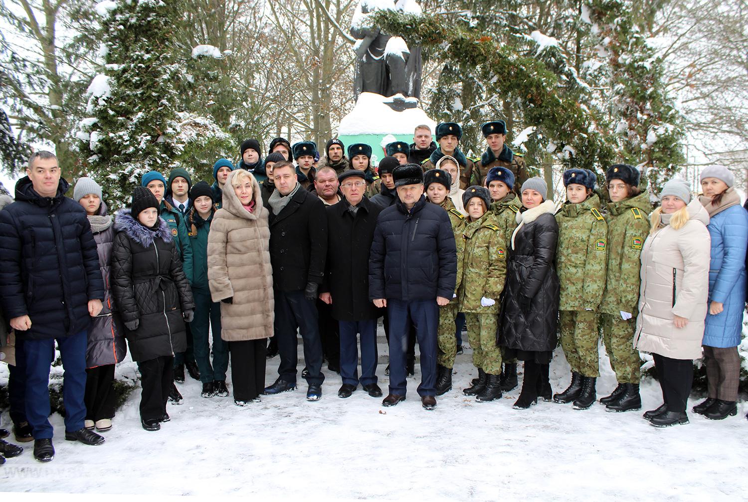
[[[506,240],[490,211],[465,224],[463,233],[462,284],[457,292],[459,311],[497,314],[506,280]],[[482,307],[482,296],[496,303]]]

